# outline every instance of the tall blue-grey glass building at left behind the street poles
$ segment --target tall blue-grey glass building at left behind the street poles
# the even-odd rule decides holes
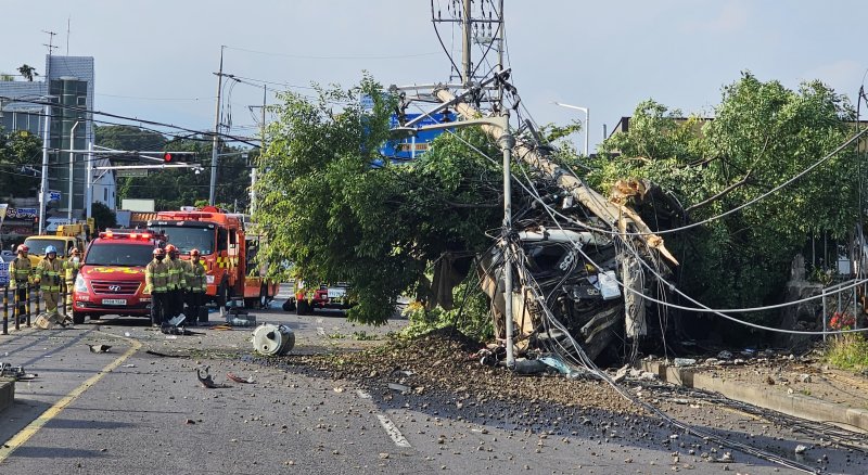
[[[115,208],[115,177],[112,172],[95,170],[87,177],[88,163],[108,165],[105,158],[95,158],[86,151],[94,142],[94,68],[92,56],[47,55],[42,81],[0,81],[0,125],[7,131],[29,130],[48,136],[48,202],[51,214],[66,217],[72,210],[73,219],[88,214],[88,182],[93,183],[91,203],[101,202]],[[46,106],[41,103],[51,102]],[[49,116],[48,133],[46,113]],[[69,166],[72,165],[72,167]],[[28,170],[41,172],[41,159]],[[71,193],[72,184],[72,193]],[[38,198],[38,190],[37,196]]]

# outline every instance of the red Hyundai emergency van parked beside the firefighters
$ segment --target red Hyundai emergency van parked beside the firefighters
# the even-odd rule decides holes
[[[73,321],[104,314],[151,316],[144,268],[163,240],[150,231],[106,230],[91,241],[73,290]]]

